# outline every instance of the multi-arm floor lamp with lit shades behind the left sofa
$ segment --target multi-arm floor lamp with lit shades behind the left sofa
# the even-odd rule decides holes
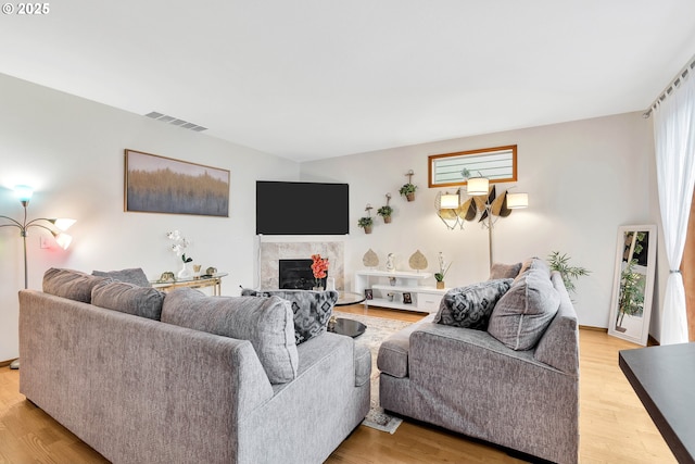
[[[24,220],[16,221],[9,216],[0,215],[0,220],[4,220],[8,224],[0,224],[0,227],[16,227],[20,229],[20,237],[22,237],[22,244],[24,247],[24,288],[29,288],[29,279],[28,279],[28,266],[26,260],[26,233],[30,227],[39,227],[51,233],[51,235],[55,238],[55,242],[63,249],[66,250],[70,247],[73,238],[67,234],[64,234],[64,230],[67,230],[70,226],[75,223],[75,220],[65,220],[65,218],[46,218],[38,217],[36,220],[31,220],[27,222],[27,206],[29,205],[29,200],[31,199],[31,195],[34,190],[27,186],[16,186],[14,188],[14,192],[16,197],[20,199],[20,203],[24,209]],[[20,368],[20,360],[14,360],[12,364],[10,364],[10,368],[18,369]]]

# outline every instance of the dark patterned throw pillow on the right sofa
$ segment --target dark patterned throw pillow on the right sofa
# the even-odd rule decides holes
[[[510,278],[486,280],[448,290],[442,298],[434,322],[484,330],[495,303],[509,290],[513,281]]]

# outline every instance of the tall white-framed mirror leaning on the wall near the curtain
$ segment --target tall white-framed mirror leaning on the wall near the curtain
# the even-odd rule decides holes
[[[656,266],[656,226],[620,226],[617,241],[608,334],[646,346]]]

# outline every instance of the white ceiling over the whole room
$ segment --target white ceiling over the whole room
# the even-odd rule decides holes
[[[693,0],[48,4],[0,73],[296,161],[645,110],[695,54]]]

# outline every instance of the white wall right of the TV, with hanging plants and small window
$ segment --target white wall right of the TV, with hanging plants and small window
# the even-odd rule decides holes
[[[571,264],[592,271],[578,281],[573,296],[580,324],[607,327],[612,289],[616,237],[619,225],[657,223],[654,204],[655,167],[652,122],[639,113],[556,124],[478,137],[426,143],[302,164],[302,178],[328,174],[350,183],[351,240],[345,244],[345,271],[363,267],[362,256],[372,249],[381,260],[396,254],[396,267],[408,269],[408,258],[420,250],[437,272],[442,251],[453,265],[447,286],[488,277],[488,234],[478,223],[464,230],[447,230],[434,214],[438,191],[427,187],[428,155],[506,145],[518,146],[518,181],[497,184],[497,191],[514,185],[529,193],[530,206],[517,210],[494,226],[494,260],[518,262],[552,251],[569,254]],[[399,197],[399,188],[415,171],[416,201]],[[371,235],[357,228],[366,203],[395,208],[393,222],[375,218]],[[433,278],[429,283],[434,285]],[[658,314],[654,316],[658,324]]]

